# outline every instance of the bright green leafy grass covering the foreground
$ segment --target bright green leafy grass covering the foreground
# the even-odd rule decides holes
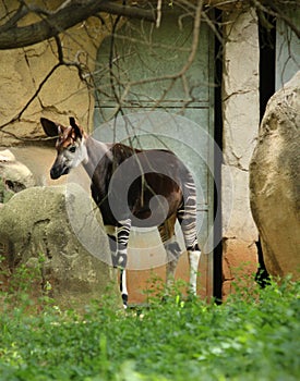
[[[238,290],[217,306],[153,299],[140,310],[95,303],[84,316],[49,304],[0,318],[0,379],[257,380],[300,379],[300,283]]]

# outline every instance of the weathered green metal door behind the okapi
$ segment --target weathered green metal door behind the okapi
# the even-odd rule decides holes
[[[197,37],[196,41],[193,19],[176,11],[164,13],[158,28],[140,21],[128,22],[113,38],[107,37],[98,50],[94,126],[96,137],[103,142],[171,149],[193,173],[199,194],[199,238],[206,251],[201,259],[200,288],[202,295],[209,296],[213,292],[214,38],[205,24],[201,25]],[[159,258],[165,258],[158,241],[156,231],[133,231],[130,269],[158,268]],[[188,272],[187,260],[179,266],[180,274],[182,269]],[[143,287],[143,282],[135,279],[134,283]]]

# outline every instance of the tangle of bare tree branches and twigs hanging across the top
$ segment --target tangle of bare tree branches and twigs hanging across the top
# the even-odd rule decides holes
[[[235,0],[224,0],[224,4],[232,3],[233,7]],[[300,38],[300,30],[299,26],[292,24],[292,20],[289,19],[290,15],[290,9],[291,7],[296,7],[296,4],[299,4],[300,0],[247,0],[244,1],[244,4],[248,4],[255,8],[257,12],[261,12],[262,14],[269,14],[274,19],[281,19],[290,28],[295,32],[296,36]],[[9,0],[7,0],[9,3]],[[208,2],[208,5],[207,5]],[[40,2],[46,3],[46,2]],[[139,3],[136,1],[135,3]],[[144,2],[145,3],[145,2]],[[91,90],[91,94],[97,98],[97,93],[94,91],[96,88],[96,82],[95,76],[93,73],[89,72],[87,61],[86,63],[81,62],[79,54],[80,51],[83,51],[85,49],[84,46],[81,46],[80,51],[77,51],[77,54],[75,58],[68,59],[68,46],[62,45],[62,36],[61,33],[65,32],[68,28],[79,24],[83,23],[86,19],[94,16],[99,17],[99,12],[105,12],[109,14],[116,14],[117,17],[115,19],[115,27],[111,33],[111,49],[113,48],[113,44],[117,39],[122,39],[123,44],[127,44],[128,40],[132,42],[139,44],[139,35],[133,35],[133,37],[128,37],[127,35],[118,35],[116,30],[116,26],[118,24],[118,21],[121,19],[121,16],[128,16],[128,17],[134,17],[134,19],[142,19],[148,22],[153,23],[153,28],[156,26],[160,26],[160,16],[161,22],[164,22],[164,12],[171,12],[172,7],[177,7],[180,9],[180,17],[178,19],[178,23],[180,24],[183,20],[183,17],[192,16],[194,19],[194,25],[192,32],[192,44],[189,48],[187,46],[179,46],[177,47],[178,51],[185,51],[188,52],[187,60],[182,63],[181,67],[177,72],[166,72],[164,75],[159,76],[159,73],[151,74],[147,77],[143,77],[141,79],[132,79],[129,82],[123,81],[122,77],[118,76],[117,71],[112,71],[112,64],[115,65],[116,62],[120,59],[119,57],[113,57],[112,50],[110,51],[109,57],[109,73],[110,73],[110,90],[112,90],[111,94],[106,94],[106,89],[101,89],[101,94],[106,95],[106,97],[113,97],[115,102],[117,103],[116,113],[122,112],[122,108],[129,107],[130,100],[129,94],[136,94],[136,97],[139,97],[139,91],[135,89],[139,88],[139,86],[147,84],[147,83],[161,83],[166,82],[166,86],[164,90],[161,91],[160,96],[155,99],[155,102],[153,103],[153,108],[156,108],[158,106],[161,107],[165,98],[167,97],[167,94],[172,89],[175,84],[179,81],[182,81],[183,88],[187,95],[187,100],[182,103],[182,109],[189,105],[193,100],[193,86],[190,85],[187,81],[187,72],[189,71],[190,66],[192,65],[195,53],[199,47],[199,38],[200,38],[200,28],[201,24],[204,22],[206,23],[212,30],[214,32],[215,36],[219,39],[220,42],[223,42],[223,36],[219,29],[216,27],[216,23],[214,19],[209,19],[209,9],[214,8],[214,5],[211,5],[209,0],[196,0],[196,1],[189,1],[189,0],[171,0],[169,2],[156,0],[157,7],[156,10],[149,10],[147,9],[141,9],[133,5],[122,5],[121,1],[116,0],[61,0],[60,5],[55,10],[49,10],[46,7],[37,7],[32,4],[32,1],[25,1],[25,0],[19,0],[20,7],[15,7],[13,11],[9,10],[7,7],[7,14],[0,19],[0,50],[2,49],[14,49],[20,47],[26,47],[36,42],[40,42],[43,40],[47,40],[49,38],[53,38],[56,41],[56,51],[53,54],[56,56],[57,63],[52,66],[52,69],[46,74],[44,79],[37,84],[37,87],[34,89],[34,94],[29,96],[27,100],[25,100],[25,106],[22,103],[22,110],[14,111],[14,116],[10,116],[11,120],[9,122],[5,122],[4,124],[0,125],[0,132],[8,134],[10,136],[13,136],[16,139],[21,140],[29,140],[31,138],[21,138],[14,135],[12,132],[5,131],[5,126],[13,124],[17,121],[21,121],[24,116],[25,111],[28,109],[28,107],[32,105],[32,102],[39,97],[39,94],[44,86],[46,85],[47,81],[50,79],[52,74],[59,70],[61,66],[71,66],[76,69],[77,74],[82,82],[85,83],[88,90]],[[285,4],[286,8],[280,8],[279,5]],[[153,5],[153,4],[152,4]],[[149,5],[149,7],[152,7]],[[289,10],[289,12],[287,11]],[[24,21],[27,21],[28,15],[34,14],[35,21],[29,24],[25,25]],[[39,20],[37,20],[37,17]],[[26,17],[26,19],[25,19]],[[113,20],[111,17],[111,20]],[[100,19],[100,21],[104,23],[104,21]],[[23,23],[23,24],[21,24]],[[156,24],[155,24],[156,23]],[[25,25],[25,26],[20,26]],[[182,23],[183,25],[183,23]],[[181,27],[183,27],[181,25]],[[88,27],[87,27],[88,28]],[[94,29],[89,29],[91,36]],[[98,33],[98,30],[96,32]],[[101,30],[99,32],[101,33]],[[69,38],[72,37],[72,34],[65,33],[65,35],[69,35]],[[91,39],[92,40],[92,39]],[[79,41],[75,41],[76,46],[79,46]],[[154,48],[164,48],[163,42],[155,42],[152,39],[143,41],[145,49],[154,49]],[[52,45],[50,45],[52,46]],[[168,48],[168,46],[165,46]],[[65,54],[65,57],[64,57]],[[124,57],[122,57],[124,58]],[[94,60],[94,58],[92,58]],[[214,86],[213,84],[205,84],[207,86]],[[120,91],[120,94],[116,90]],[[109,91],[108,91],[109,93]],[[147,96],[147,95],[145,95]],[[91,96],[92,97],[92,96]],[[112,99],[112,98],[111,98]],[[41,100],[40,105],[41,105]],[[142,107],[142,102],[140,105]],[[41,107],[44,107],[41,105]],[[33,138],[36,139],[36,138]],[[39,138],[37,138],[39,139]]]

